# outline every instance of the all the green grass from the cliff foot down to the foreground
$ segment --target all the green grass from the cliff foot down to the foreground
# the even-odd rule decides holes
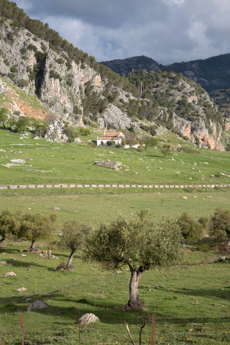
[[[81,136],[81,145],[35,141],[32,137],[0,130],[0,183],[229,183],[229,153],[199,150],[199,154],[173,152],[163,157],[159,147],[137,152],[134,149],[98,148],[88,143],[100,131]],[[160,141],[178,144],[173,134]],[[189,145],[179,141],[181,145]],[[16,144],[16,145],[14,145]],[[23,145],[18,145],[23,144]],[[163,144],[158,144],[162,146]],[[25,159],[26,166],[4,167],[11,159]],[[121,171],[97,167],[96,160],[118,160]],[[50,170],[49,173],[27,169]],[[213,177],[212,175],[218,177]],[[154,217],[177,217],[189,212],[193,217],[210,216],[217,207],[229,208],[229,189],[26,189],[1,190],[0,210],[21,210],[48,214],[55,211],[59,233],[65,220],[75,219],[97,226],[124,214],[130,218],[148,208]],[[167,270],[145,272],[140,281],[140,297],[147,311],[117,310],[128,301],[129,272],[107,272],[95,263],[84,263],[80,252],[74,259],[74,272],[55,272],[67,253],[54,244],[54,234],[42,248],[52,249],[58,259],[44,259],[36,254],[21,256],[29,243],[8,242],[0,248],[0,338],[3,344],[20,344],[20,314],[24,314],[26,344],[79,343],[76,319],[86,312],[95,313],[101,323],[81,329],[81,343],[128,344],[125,324],[136,343],[144,320],[143,344],[151,342],[151,317],[154,312],[155,343],[158,344],[228,344],[229,337],[229,262],[212,264],[220,254],[196,251],[197,244],[186,252],[180,265]],[[16,277],[3,278],[7,271]],[[20,287],[27,291],[18,293]],[[32,301],[44,300],[49,308],[28,312]],[[1,342],[1,341],[0,341]]]

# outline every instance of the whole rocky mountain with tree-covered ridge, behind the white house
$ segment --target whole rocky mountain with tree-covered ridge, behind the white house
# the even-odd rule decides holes
[[[15,3],[2,0],[0,14],[0,104],[12,116],[35,116],[30,102],[18,106],[13,100],[22,90],[72,125],[147,132],[153,126],[156,132],[174,128],[194,143],[224,150],[220,113],[195,82],[160,71],[148,77],[145,71],[133,78],[120,76],[47,24],[29,18]],[[149,61],[153,64],[160,66]]]

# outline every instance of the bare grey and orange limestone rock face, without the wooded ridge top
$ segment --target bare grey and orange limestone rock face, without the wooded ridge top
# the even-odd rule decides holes
[[[100,128],[139,128],[143,118],[137,117],[143,103],[147,105],[149,100],[139,98],[140,91],[134,86],[135,83],[132,85],[126,80],[121,86],[120,77],[111,76],[106,71],[99,72],[99,67],[96,68],[89,62],[83,63],[80,59],[74,60],[61,49],[58,52],[53,50],[49,42],[35,37],[27,29],[13,31],[7,20],[2,20],[0,34],[0,76],[25,93],[38,96],[39,100],[37,99],[34,108],[30,102],[26,104],[20,100],[15,88],[10,88],[1,78],[0,93],[8,100],[11,113],[17,112],[22,116],[29,115],[42,120],[49,118],[51,114],[55,114],[56,119],[58,117],[49,125],[45,139],[58,142],[68,140],[63,120],[78,126],[96,122]],[[140,65],[137,60],[136,63]],[[151,59],[148,63],[155,70],[161,68]],[[119,82],[114,81],[116,78]],[[152,94],[163,93],[160,95],[161,99],[166,94],[171,95],[175,114],[172,114],[172,110],[162,114],[164,106],[158,107],[153,102],[151,106],[155,115],[146,122],[147,125],[151,126],[155,122],[160,125],[159,122],[168,116],[172,119],[174,128],[191,141],[199,141],[200,145],[211,148],[224,148],[221,144],[221,126],[216,123],[215,117],[212,123],[207,118],[205,109],[208,107],[215,112],[215,106],[204,90],[201,89],[198,95],[198,85],[192,85],[181,78],[177,83],[178,87],[172,87],[170,78],[160,80],[157,85],[152,87]],[[191,119],[181,119],[176,110],[185,97],[193,105],[194,111],[189,114]],[[133,107],[136,109],[135,115]],[[146,113],[144,120],[145,117],[148,118],[148,111]]]

